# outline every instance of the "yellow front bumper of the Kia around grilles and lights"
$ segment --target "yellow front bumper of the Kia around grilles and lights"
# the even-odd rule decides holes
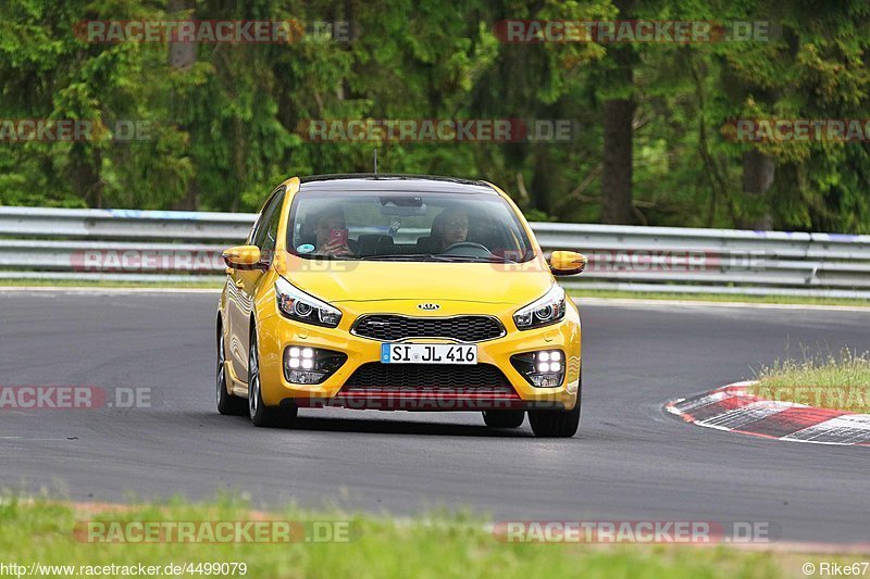
[[[265,404],[273,406],[294,402],[302,407],[346,406],[352,408],[418,410],[418,411],[478,411],[508,408],[556,408],[574,407],[580,389],[581,373],[581,325],[576,307],[568,303],[566,317],[558,324],[543,328],[520,331],[506,313],[505,305],[474,304],[470,312],[468,303],[445,303],[438,315],[496,315],[507,333],[497,339],[474,342],[481,364],[496,366],[507,378],[513,392],[486,392],[473,389],[455,391],[417,388],[377,389],[377,391],[345,388],[351,375],[363,364],[378,363],[381,344],[378,340],[362,338],[350,333],[350,326],[362,314],[420,315],[417,302],[383,303],[361,302],[359,311],[343,307],[344,316],[337,328],[323,328],[291,322],[277,312],[258,323],[260,339],[260,380]],[[381,306],[376,312],[373,306]],[[363,311],[362,307],[365,307]],[[353,309],[356,310],[356,309]],[[422,317],[422,316],[421,316]],[[421,339],[420,343],[455,343],[449,340]],[[319,385],[298,385],[286,380],[284,374],[284,351],[291,345],[321,348],[344,352],[347,361],[332,376]],[[514,369],[510,362],[513,354],[537,350],[562,350],[566,361],[566,376],[562,383],[552,388],[533,387]]]

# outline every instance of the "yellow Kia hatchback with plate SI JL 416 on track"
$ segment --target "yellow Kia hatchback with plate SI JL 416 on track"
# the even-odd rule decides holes
[[[539,437],[580,423],[580,315],[510,198],[484,181],[291,178],[223,254],[217,410],[476,411]]]

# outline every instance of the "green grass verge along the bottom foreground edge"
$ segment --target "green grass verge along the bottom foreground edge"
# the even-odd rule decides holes
[[[725,546],[504,543],[483,521],[438,514],[397,523],[385,516],[288,507],[282,520],[348,521],[348,542],[89,543],[74,538],[79,521],[237,521],[261,518],[244,504],[219,500],[132,505],[122,511],[73,507],[45,500],[0,503],[0,561],[29,565],[245,563],[247,577],[587,577],[728,579],[799,576],[781,555]],[[92,507],[91,507],[92,508]],[[830,557],[828,557],[830,558]],[[795,572],[798,571],[798,572]],[[239,575],[236,575],[237,577]],[[223,577],[223,576],[222,576]]]

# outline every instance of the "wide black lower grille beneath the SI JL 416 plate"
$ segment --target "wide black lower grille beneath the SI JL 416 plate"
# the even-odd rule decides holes
[[[507,377],[492,364],[363,364],[348,378],[345,389],[425,389],[434,391],[487,390],[512,393]]]

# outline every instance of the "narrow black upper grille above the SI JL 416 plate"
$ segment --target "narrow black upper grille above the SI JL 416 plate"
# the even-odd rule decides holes
[[[352,333],[382,342],[406,338],[445,338],[459,342],[481,342],[505,335],[501,323],[490,316],[408,317],[389,314],[365,315]]]

